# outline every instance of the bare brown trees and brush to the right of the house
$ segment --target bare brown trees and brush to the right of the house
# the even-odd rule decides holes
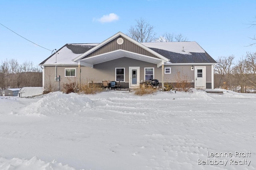
[[[256,52],[247,52],[239,61],[234,55],[216,61],[214,87],[241,93],[256,93]]]

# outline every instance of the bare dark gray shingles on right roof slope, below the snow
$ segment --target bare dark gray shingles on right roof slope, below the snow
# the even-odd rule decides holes
[[[191,53],[191,55],[174,53],[162,49],[150,48],[156,53],[170,59],[172,63],[217,63],[208,53]]]

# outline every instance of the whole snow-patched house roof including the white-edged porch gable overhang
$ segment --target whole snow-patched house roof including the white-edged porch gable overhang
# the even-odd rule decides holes
[[[102,46],[106,45],[110,41],[117,37],[124,37],[132,43],[138,45],[142,49],[149,51],[152,55],[158,57],[152,58],[137,53],[132,53],[125,50],[110,51],[108,53],[90,56],[94,51],[97,51]],[[40,65],[51,64],[63,64],[63,65],[78,65],[78,61],[88,62],[89,64],[100,63],[118,58],[118,55],[122,57],[127,56],[130,58],[138,59],[143,58],[143,61],[150,63],[157,63],[160,60],[170,61],[171,63],[216,63],[216,61],[198,45],[195,41],[191,42],[153,42],[153,43],[138,43],[131,39],[127,35],[118,32],[112,37],[106,39],[102,43],[87,43],[87,44],[66,44],[57,51],[57,55],[54,53],[44,60]],[[119,56],[120,57],[120,56]],[[108,59],[104,59],[108,58]],[[73,60],[72,60],[73,59]],[[97,60],[97,61],[96,61]],[[57,62],[56,62],[57,61]]]

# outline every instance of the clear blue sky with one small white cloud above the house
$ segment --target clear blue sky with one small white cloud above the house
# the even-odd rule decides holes
[[[47,49],[101,43],[144,18],[158,36],[181,33],[214,59],[256,52],[256,0],[0,0],[0,23]],[[0,61],[39,64],[51,55],[0,25]]]

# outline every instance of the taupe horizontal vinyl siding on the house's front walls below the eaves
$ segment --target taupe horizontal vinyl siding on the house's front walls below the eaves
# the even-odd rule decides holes
[[[103,80],[115,81],[115,68],[124,68],[125,82],[121,82],[121,87],[128,88],[129,67],[140,67],[140,82],[145,80],[145,68],[154,68],[154,79],[162,82],[162,68],[158,68],[156,64],[122,57],[105,63],[95,64],[93,68],[81,66],[81,83],[102,82]],[[176,82],[178,72],[180,72],[181,79],[186,79],[188,82],[193,82],[192,80],[194,80],[194,70],[191,70],[190,65],[166,65],[165,67],[171,68],[171,74],[164,74],[165,82]],[[76,77],[65,77],[65,68],[76,68]],[[45,89],[51,85],[52,91],[58,91],[59,83],[55,81],[55,66],[45,66],[44,69]],[[211,71],[211,65],[206,65],[206,82],[211,82]],[[78,82],[78,66],[57,66],[57,75],[60,75],[60,90],[62,90],[64,83]],[[207,84],[208,87],[210,87],[210,84]]]

